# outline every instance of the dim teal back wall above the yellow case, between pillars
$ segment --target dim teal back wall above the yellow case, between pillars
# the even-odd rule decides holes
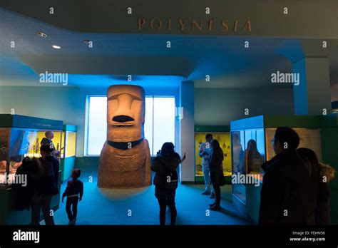
[[[293,115],[292,88],[195,88],[195,125],[230,125],[263,114]]]

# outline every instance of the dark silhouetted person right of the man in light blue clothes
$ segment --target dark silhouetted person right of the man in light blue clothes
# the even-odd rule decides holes
[[[211,155],[210,155],[210,178],[212,187],[215,190],[215,202],[210,204],[210,210],[220,210],[220,183],[223,176],[222,161],[224,155],[220,143],[217,140],[211,141]]]

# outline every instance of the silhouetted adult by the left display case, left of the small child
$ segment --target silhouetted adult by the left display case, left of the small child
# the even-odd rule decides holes
[[[58,195],[58,160],[53,156],[53,143],[44,143],[40,148],[40,161],[43,167],[43,175],[36,182],[36,192],[31,202],[32,224],[40,224],[40,211],[47,225],[53,225],[54,219],[51,215],[51,199]]]

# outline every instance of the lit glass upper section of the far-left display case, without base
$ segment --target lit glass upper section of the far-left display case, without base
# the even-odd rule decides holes
[[[0,115],[0,184],[11,184],[24,157],[40,157],[41,140],[53,131],[56,150],[61,150],[62,121],[24,115]]]

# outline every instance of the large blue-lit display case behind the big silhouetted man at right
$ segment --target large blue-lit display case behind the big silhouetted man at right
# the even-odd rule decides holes
[[[293,128],[300,138],[298,148],[314,150],[320,161],[329,163],[337,170],[338,157],[333,156],[333,153],[330,155],[324,152],[326,149],[332,150],[332,145],[337,144],[337,139],[334,141],[333,138],[338,138],[337,123],[337,115],[260,115],[232,121],[232,174],[237,175],[236,178],[240,175],[243,178],[255,178],[260,182],[257,185],[253,183],[254,180],[238,180],[233,183],[232,195],[235,205],[245,211],[254,222],[258,221],[260,190],[264,177],[261,165],[275,156],[272,139],[277,127]],[[337,185],[337,180],[332,182],[331,189],[338,190]],[[337,197],[336,200],[332,199],[332,207],[336,209],[337,215]]]

